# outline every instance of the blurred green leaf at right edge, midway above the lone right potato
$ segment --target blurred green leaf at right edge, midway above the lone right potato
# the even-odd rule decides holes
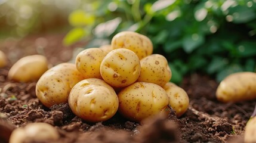
[[[256,55],[256,43],[244,41],[236,48],[240,57],[250,57]]]

